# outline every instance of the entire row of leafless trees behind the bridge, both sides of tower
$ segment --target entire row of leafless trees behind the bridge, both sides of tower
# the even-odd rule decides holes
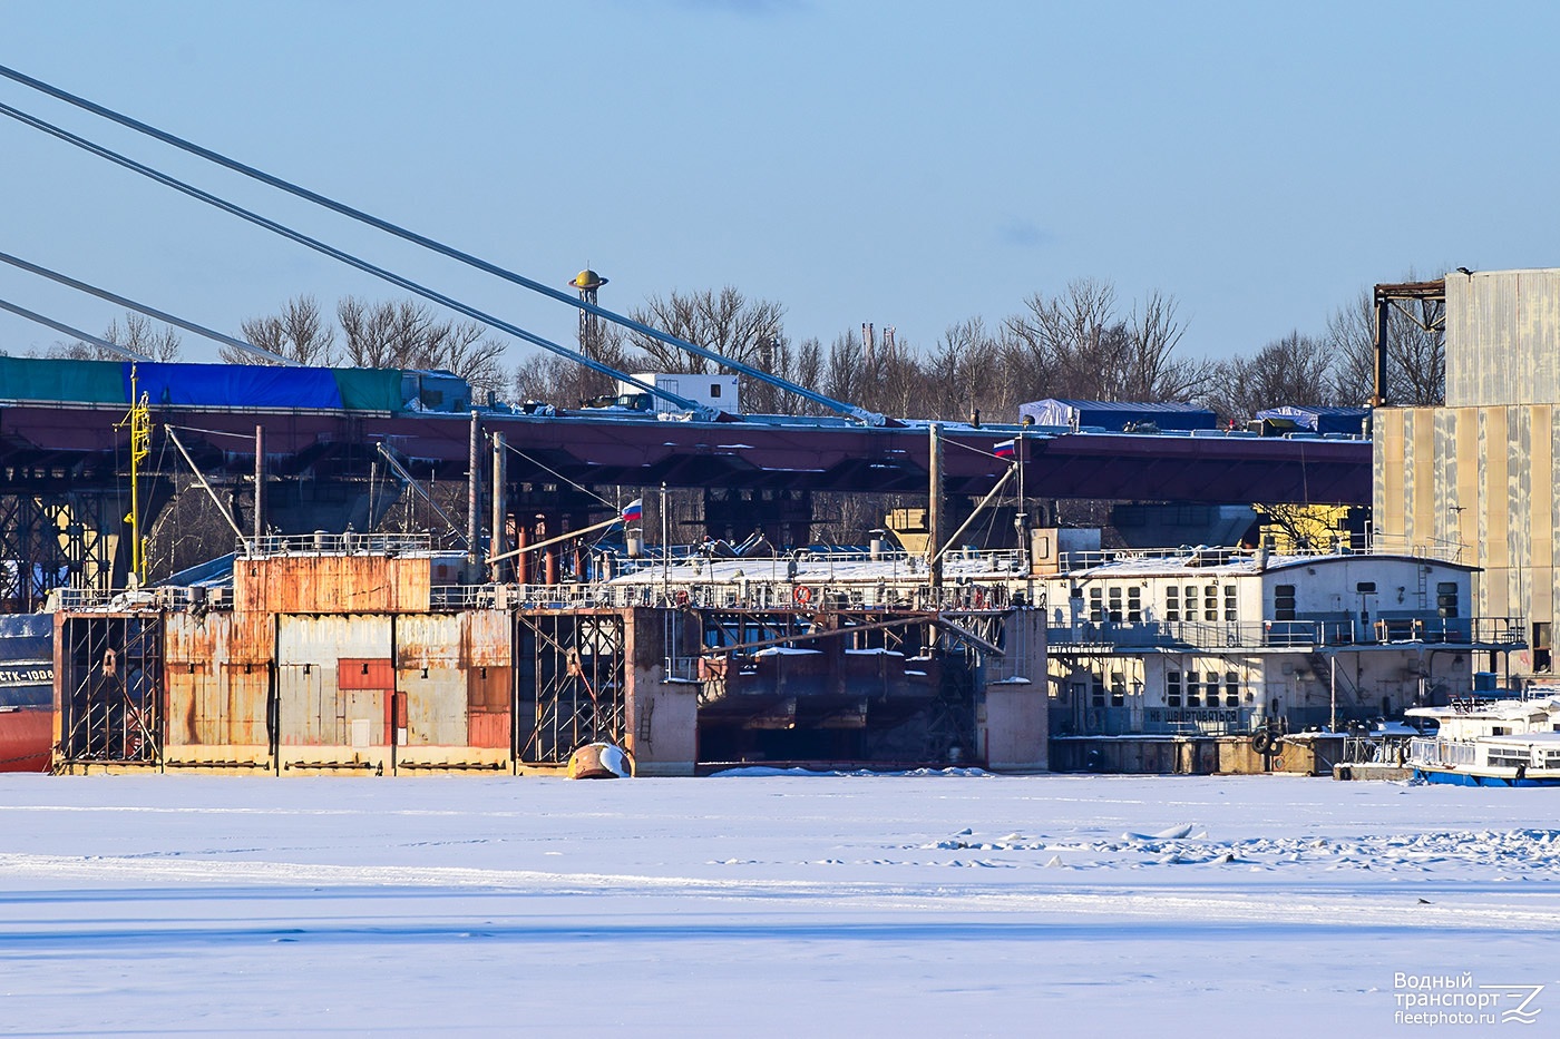
[[[1123,304],[1109,281],[1087,278],[1059,292],[1037,292],[995,323],[955,321],[925,343],[892,332],[878,337],[867,326],[835,335],[828,346],[817,337],[796,340],[785,328],[785,306],[730,285],[652,295],[630,317],[824,396],[900,418],[961,421],[980,413],[986,421],[1014,421],[1026,401],[1064,398],[1193,402],[1221,421],[1243,423],[1282,404],[1365,404],[1374,390],[1376,321],[1368,289],[1334,310],[1318,332],[1293,329],[1254,353],[1221,360],[1187,356],[1187,328],[1175,296],[1150,292]],[[1441,402],[1438,317],[1392,310],[1392,402]],[[493,393],[576,407],[616,392],[607,376],[555,354],[524,357],[505,370],[502,339],[415,300],[346,296],[329,315],[318,300],[301,295],[275,314],[243,321],[242,335],[307,365],[441,368],[466,379],[476,399]],[[716,371],[714,362],[616,324],[597,323],[590,337],[582,351],[619,371]],[[173,360],[183,348],[175,329],[136,312],[112,321],[103,339],[158,360]],[[83,342],[56,343],[47,353],[111,356]],[[232,346],[220,354],[231,363],[267,363]],[[778,415],[824,410],[757,379],[746,381],[741,407]]]

